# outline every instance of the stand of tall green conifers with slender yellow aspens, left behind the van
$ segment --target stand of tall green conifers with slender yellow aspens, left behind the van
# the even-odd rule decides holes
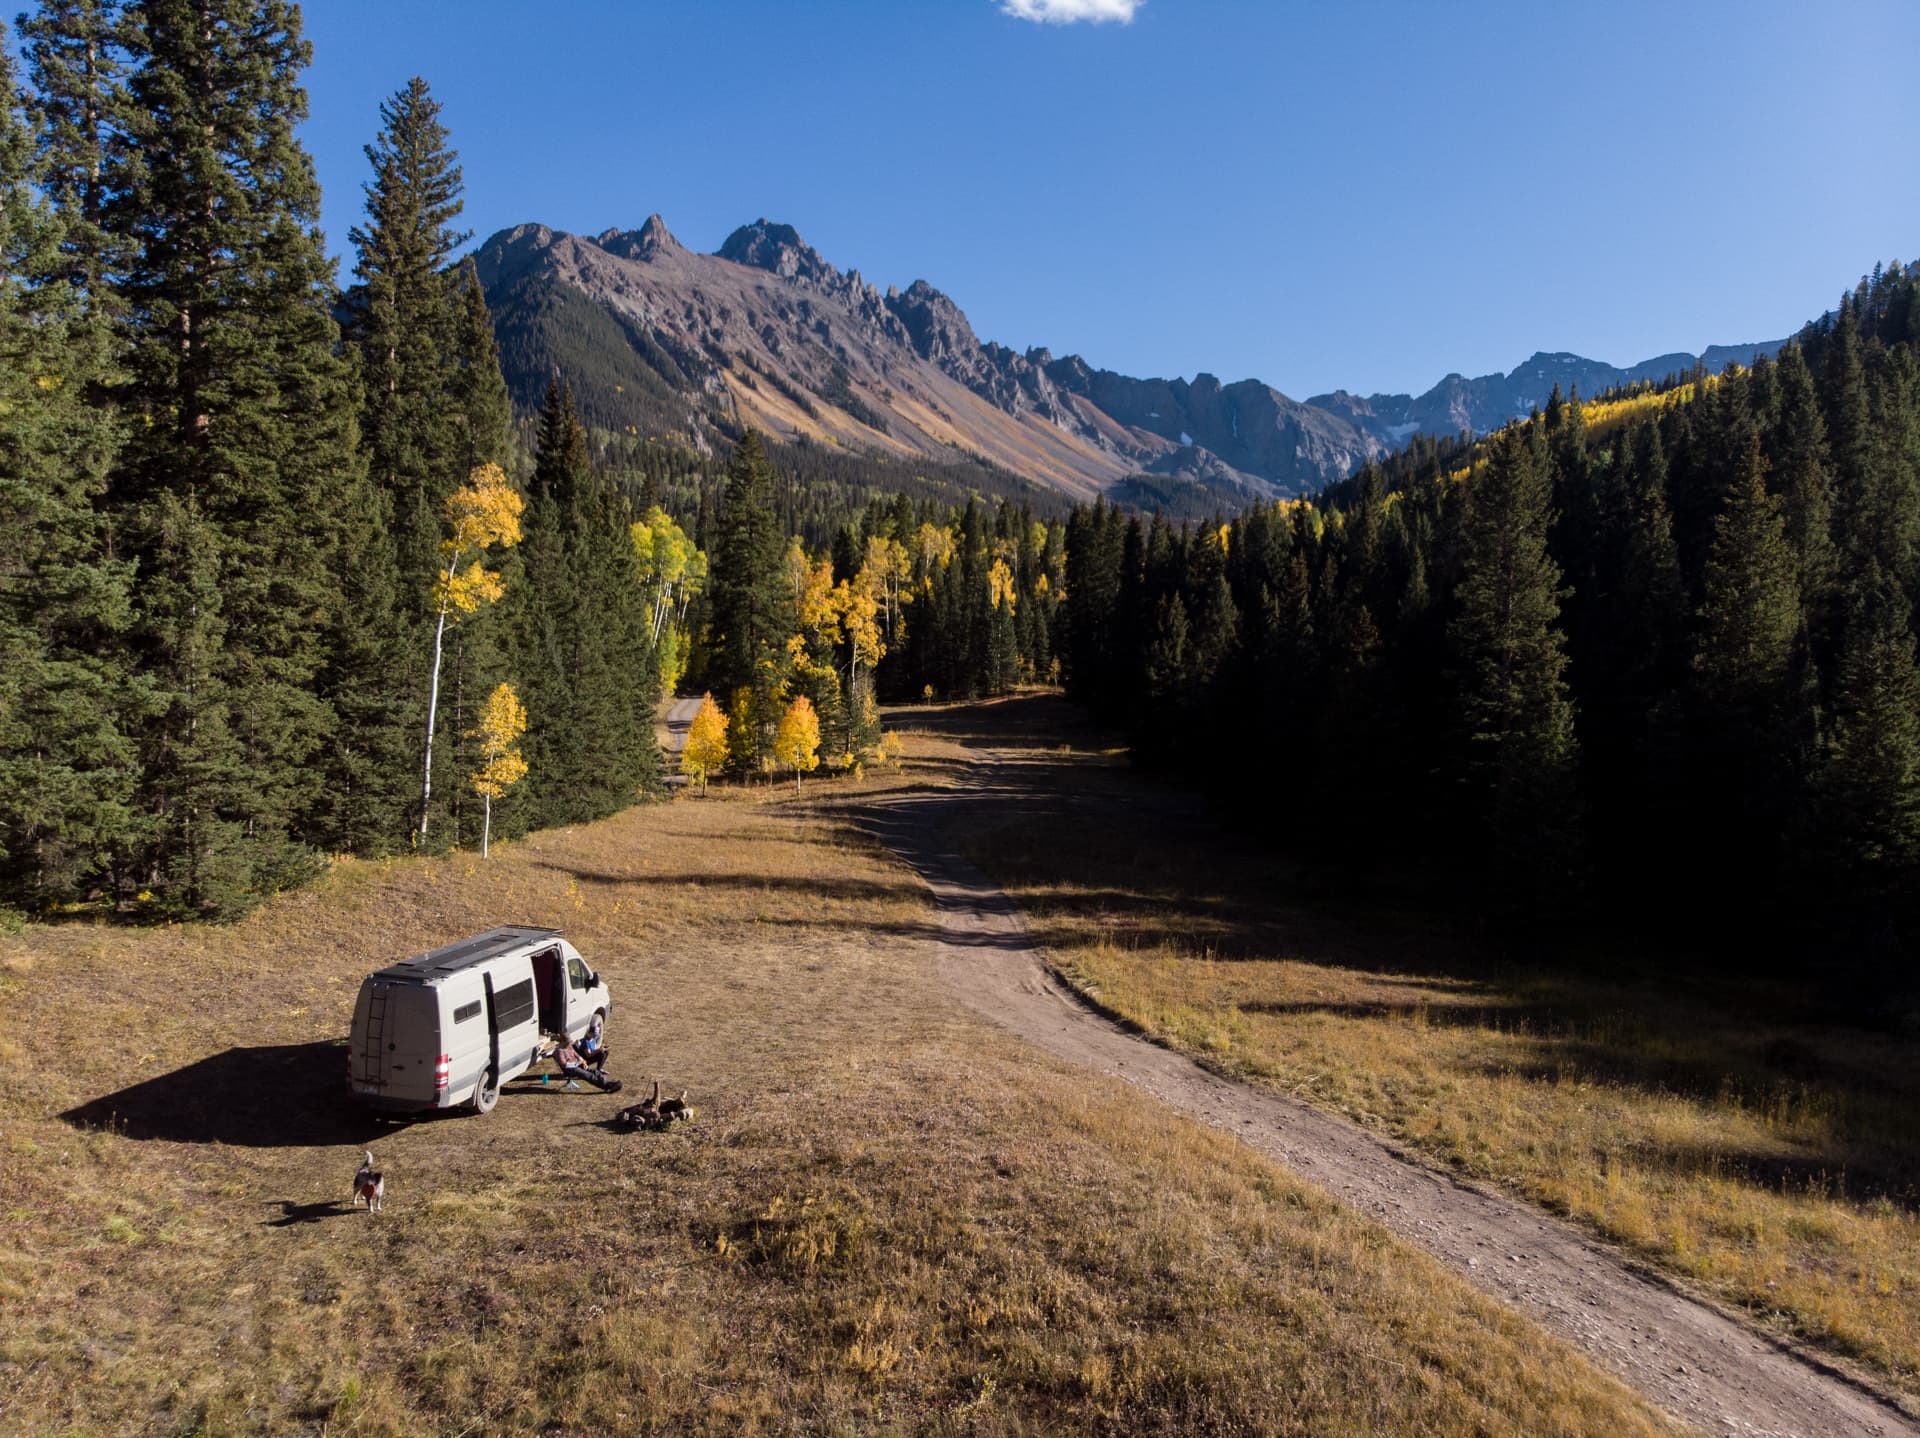
[[[227,918],[332,852],[476,843],[488,801],[513,833],[653,789],[643,516],[563,388],[516,455],[424,81],[342,303],[296,6],[48,0],[17,52],[0,902]]]

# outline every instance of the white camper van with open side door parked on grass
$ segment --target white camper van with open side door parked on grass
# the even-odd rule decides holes
[[[607,983],[559,929],[488,929],[367,977],[348,1083],[392,1114],[457,1104],[486,1114],[532,1066],[543,1033],[578,1039],[611,1008]]]

